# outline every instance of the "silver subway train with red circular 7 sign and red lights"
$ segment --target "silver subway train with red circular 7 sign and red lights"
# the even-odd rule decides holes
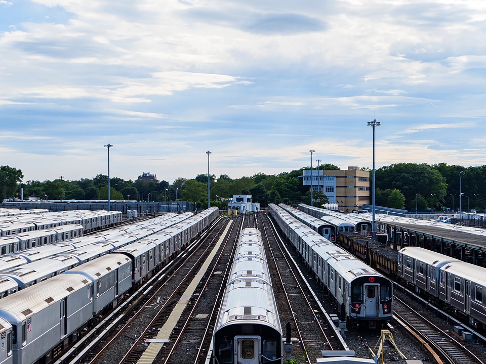
[[[392,320],[391,281],[296,220],[281,207],[268,211],[340,308],[341,320],[377,328]]]

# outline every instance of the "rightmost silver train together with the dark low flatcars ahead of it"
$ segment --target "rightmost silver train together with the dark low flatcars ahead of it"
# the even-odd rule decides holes
[[[486,332],[486,268],[421,247],[397,251],[356,234],[339,234],[339,240],[375,269]]]

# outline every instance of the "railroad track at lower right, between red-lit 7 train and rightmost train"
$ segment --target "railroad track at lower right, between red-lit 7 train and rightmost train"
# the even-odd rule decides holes
[[[393,317],[430,347],[429,351],[437,362],[483,363],[470,349],[461,344],[454,334],[439,328],[397,295],[394,295]]]

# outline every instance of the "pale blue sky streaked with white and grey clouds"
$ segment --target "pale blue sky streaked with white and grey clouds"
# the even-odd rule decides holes
[[[0,0],[0,165],[484,165],[485,78],[483,0]]]

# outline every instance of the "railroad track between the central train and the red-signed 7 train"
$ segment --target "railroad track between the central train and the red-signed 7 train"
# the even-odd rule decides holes
[[[316,297],[305,279],[295,274],[299,269],[287,257],[268,215],[260,215],[260,218],[260,231],[267,250],[273,292],[276,301],[280,303],[280,321],[282,327],[286,327],[287,322],[293,323],[292,335],[299,341],[298,348],[294,347],[292,357],[300,356],[306,362],[314,363],[316,358],[321,357],[321,350],[347,349],[334,324],[328,322],[329,316],[322,310],[319,302],[316,302]]]

